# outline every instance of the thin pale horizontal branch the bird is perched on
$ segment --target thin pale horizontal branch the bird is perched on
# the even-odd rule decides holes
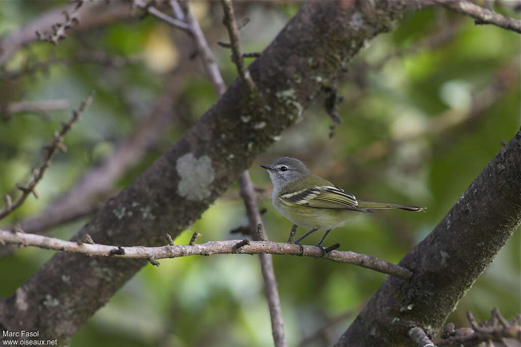
[[[94,240],[95,241],[95,240]],[[251,241],[250,245],[235,248],[242,240],[210,241],[206,243],[194,243],[194,245],[175,245],[163,247],[121,247],[125,254],[110,255],[110,251],[118,249],[117,246],[98,245],[83,243],[81,246],[76,242],[65,241],[53,237],[27,234],[0,230],[0,243],[16,243],[24,246],[34,246],[44,249],[52,249],[69,253],[81,253],[85,255],[113,256],[126,259],[166,259],[179,258],[188,255],[210,255],[210,254],[286,254],[300,255],[298,245],[290,245],[287,242]],[[320,258],[320,249],[315,246],[303,246],[302,255]],[[401,279],[408,279],[412,272],[398,265],[377,259],[375,256],[359,254],[350,251],[331,251],[324,259],[336,263],[348,263],[372,269],[383,274],[388,274]]]

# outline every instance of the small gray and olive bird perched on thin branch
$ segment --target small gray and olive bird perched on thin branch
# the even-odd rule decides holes
[[[354,195],[326,179],[313,175],[298,159],[283,157],[271,164],[263,164],[261,167],[268,171],[273,184],[271,194],[273,207],[293,223],[288,242],[299,245],[302,253],[304,248],[301,241],[317,230],[326,230],[316,245],[320,248],[322,256],[339,248],[340,243],[324,248],[322,242],[331,229],[344,225],[359,212],[373,212],[372,209],[400,209],[417,212],[426,209],[401,203],[357,200]],[[310,231],[293,241],[297,226]]]

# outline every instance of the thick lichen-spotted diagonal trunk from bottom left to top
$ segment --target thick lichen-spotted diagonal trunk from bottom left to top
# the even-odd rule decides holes
[[[364,4],[362,2],[361,4]],[[373,3],[369,3],[373,4]],[[274,136],[334,79],[364,42],[389,31],[411,2],[309,2],[250,67],[265,105],[237,80],[149,169],[106,202],[73,240],[157,246],[198,219]],[[57,253],[2,303],[0,328],[38,330],[60,344],[110,300],[145,260]],[[0,329],[1,330],[1,329]]]

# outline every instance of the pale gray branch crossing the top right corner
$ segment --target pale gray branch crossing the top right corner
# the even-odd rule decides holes
[[[466,0],[434,0],[443,7],[476,19],[477,24],[493,24],[497,27],[521,33],[521,20],[505,17],[498,12],[474,5]]]

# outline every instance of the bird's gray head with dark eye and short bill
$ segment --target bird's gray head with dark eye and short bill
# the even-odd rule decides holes
[[[304,176],[311,175],[311,171],[299,159],[283,157],[269,165],[261,165],[269,173],[271,183],[276,190],[288,183],[294,182]]]

